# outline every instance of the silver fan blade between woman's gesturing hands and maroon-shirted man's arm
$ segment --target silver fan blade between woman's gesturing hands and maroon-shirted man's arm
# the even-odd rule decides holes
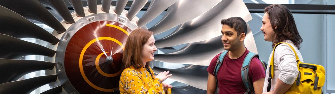
[[[172,74],[172,76],[169,77],[170,79],[191,85],[202,90],[207,90],[207,68],[208,66],[187,65],[178,69],[153,67],[152,70],[154,73],[170,70],[170,73]],[[190,80],[190,78],[192,78],[192,80]]]

